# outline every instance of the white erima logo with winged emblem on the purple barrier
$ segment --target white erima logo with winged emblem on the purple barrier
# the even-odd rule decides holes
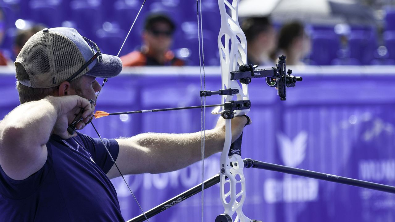
[[[307,132],[299,132],[293,140],[277,134],[277,141],[286,166],[297,167],[305,160]],[[292,175],[284,175],[284,179],[270,178],[263,184],[263,195],[267,203],[314,201],[318,197],[318,181]]]

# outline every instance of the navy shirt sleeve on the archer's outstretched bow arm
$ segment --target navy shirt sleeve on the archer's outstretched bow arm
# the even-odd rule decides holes
[[[108,171],[113,166],[114,162],[111,160],[111,156],[114,161],[117,160],[119,153],[119,145],[115,139],[103,139],[103,143],[105,147],[98,138],[92,138],[88,135],[81,134],[77,132],[79,139],[81,139],[82,143],[85,144],[85,148],[92,155],[93,161],[103,170],[104,173],[108,173]],[[109,150],[111,156],[108,154],[107,149]]]

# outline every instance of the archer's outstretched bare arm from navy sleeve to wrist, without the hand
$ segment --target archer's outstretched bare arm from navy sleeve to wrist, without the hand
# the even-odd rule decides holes
[[[117,139],[117,164],[126,174],[164,173],[201,160],[201,132],[191,134],[139,134]],[[224,145],[221,129],[206,130],[205,157],[220,152]],[[111,172],[111,177],[118,173]]]

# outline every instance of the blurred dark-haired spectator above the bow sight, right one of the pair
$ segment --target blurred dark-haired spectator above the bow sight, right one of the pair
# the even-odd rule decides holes
[[[287,65],[303,65],[303,59],[310,50],[310,37],[306,34],[302,23],[293,21],[282,26],[276,55],[287,56]]]

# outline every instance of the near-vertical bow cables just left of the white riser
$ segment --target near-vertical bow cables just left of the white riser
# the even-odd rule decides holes
[[[199,13],[200,9],[200,13]],[[199,68],[200,68],[200,90],[206,90],[204,47],[203,47],[203,23],[201,15],[201,0],[196,0],[196,11],[198,14],[198,42],[199,42]],[[200,17],[200,18],[199,18]],[[200,20],[199,20],[200,19]],[[200,45],[201,41],[201,45]],[[203,83],[202,83],[202,62],[203,62]],[[203,98],[204,97],[204,98]],[[205,130],[206,130],[206,97],[200,97],[201,103],[201,221],[203,222],[204,203],[204,157],[205,157]]]

